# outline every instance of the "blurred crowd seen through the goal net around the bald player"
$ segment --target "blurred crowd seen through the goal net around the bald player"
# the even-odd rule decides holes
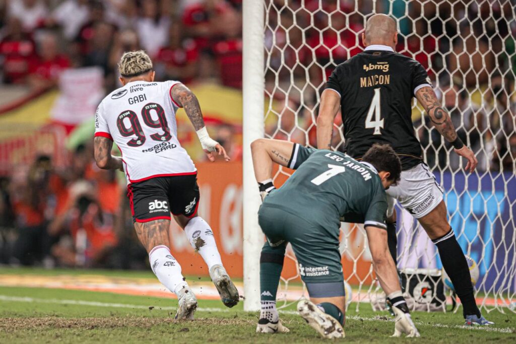
[[[390,13],[399,23],[396,51],[427,69],[459,136],[477,154],[478,168],[516,173],[516,1],[284,3],[271,0],[266,9],[266,88],[277,100],[267,114],[270,137],[316,146],[314,120],[326,78],[363,50],[367,16]],[[451,145],[421,113],[416,109],[413,120],[428,164],[457,171]],[[338,131],[332,143],[342,150]]]

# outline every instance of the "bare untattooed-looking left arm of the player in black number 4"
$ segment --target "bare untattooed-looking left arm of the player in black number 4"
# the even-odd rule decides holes
[[[324,90],[321,94],[319,116],[317,116],[317,148],[331,149],[333,121],[341,106],[341,97],[333,90]]]

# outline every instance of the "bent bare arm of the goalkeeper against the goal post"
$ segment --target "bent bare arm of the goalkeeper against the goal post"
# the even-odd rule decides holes
[[[272,164],[288,166],[294,143],[283,140],[257,139],[251,143],[254,176],[262,183],[272,178]]]

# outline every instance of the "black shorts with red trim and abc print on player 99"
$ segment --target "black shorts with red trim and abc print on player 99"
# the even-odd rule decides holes
[[[134,222],[193,217],[199,206],[197,175],[155,177],[127,186]]]

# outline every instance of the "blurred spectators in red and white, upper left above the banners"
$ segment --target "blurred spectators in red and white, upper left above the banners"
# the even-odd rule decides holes
[[[2,79],[48,87],[63,69],[96,65],[111,90],[122,53],[142,48],[158,80],[213,79],[239,88],[240,6],[241,0],[0,1]]]

